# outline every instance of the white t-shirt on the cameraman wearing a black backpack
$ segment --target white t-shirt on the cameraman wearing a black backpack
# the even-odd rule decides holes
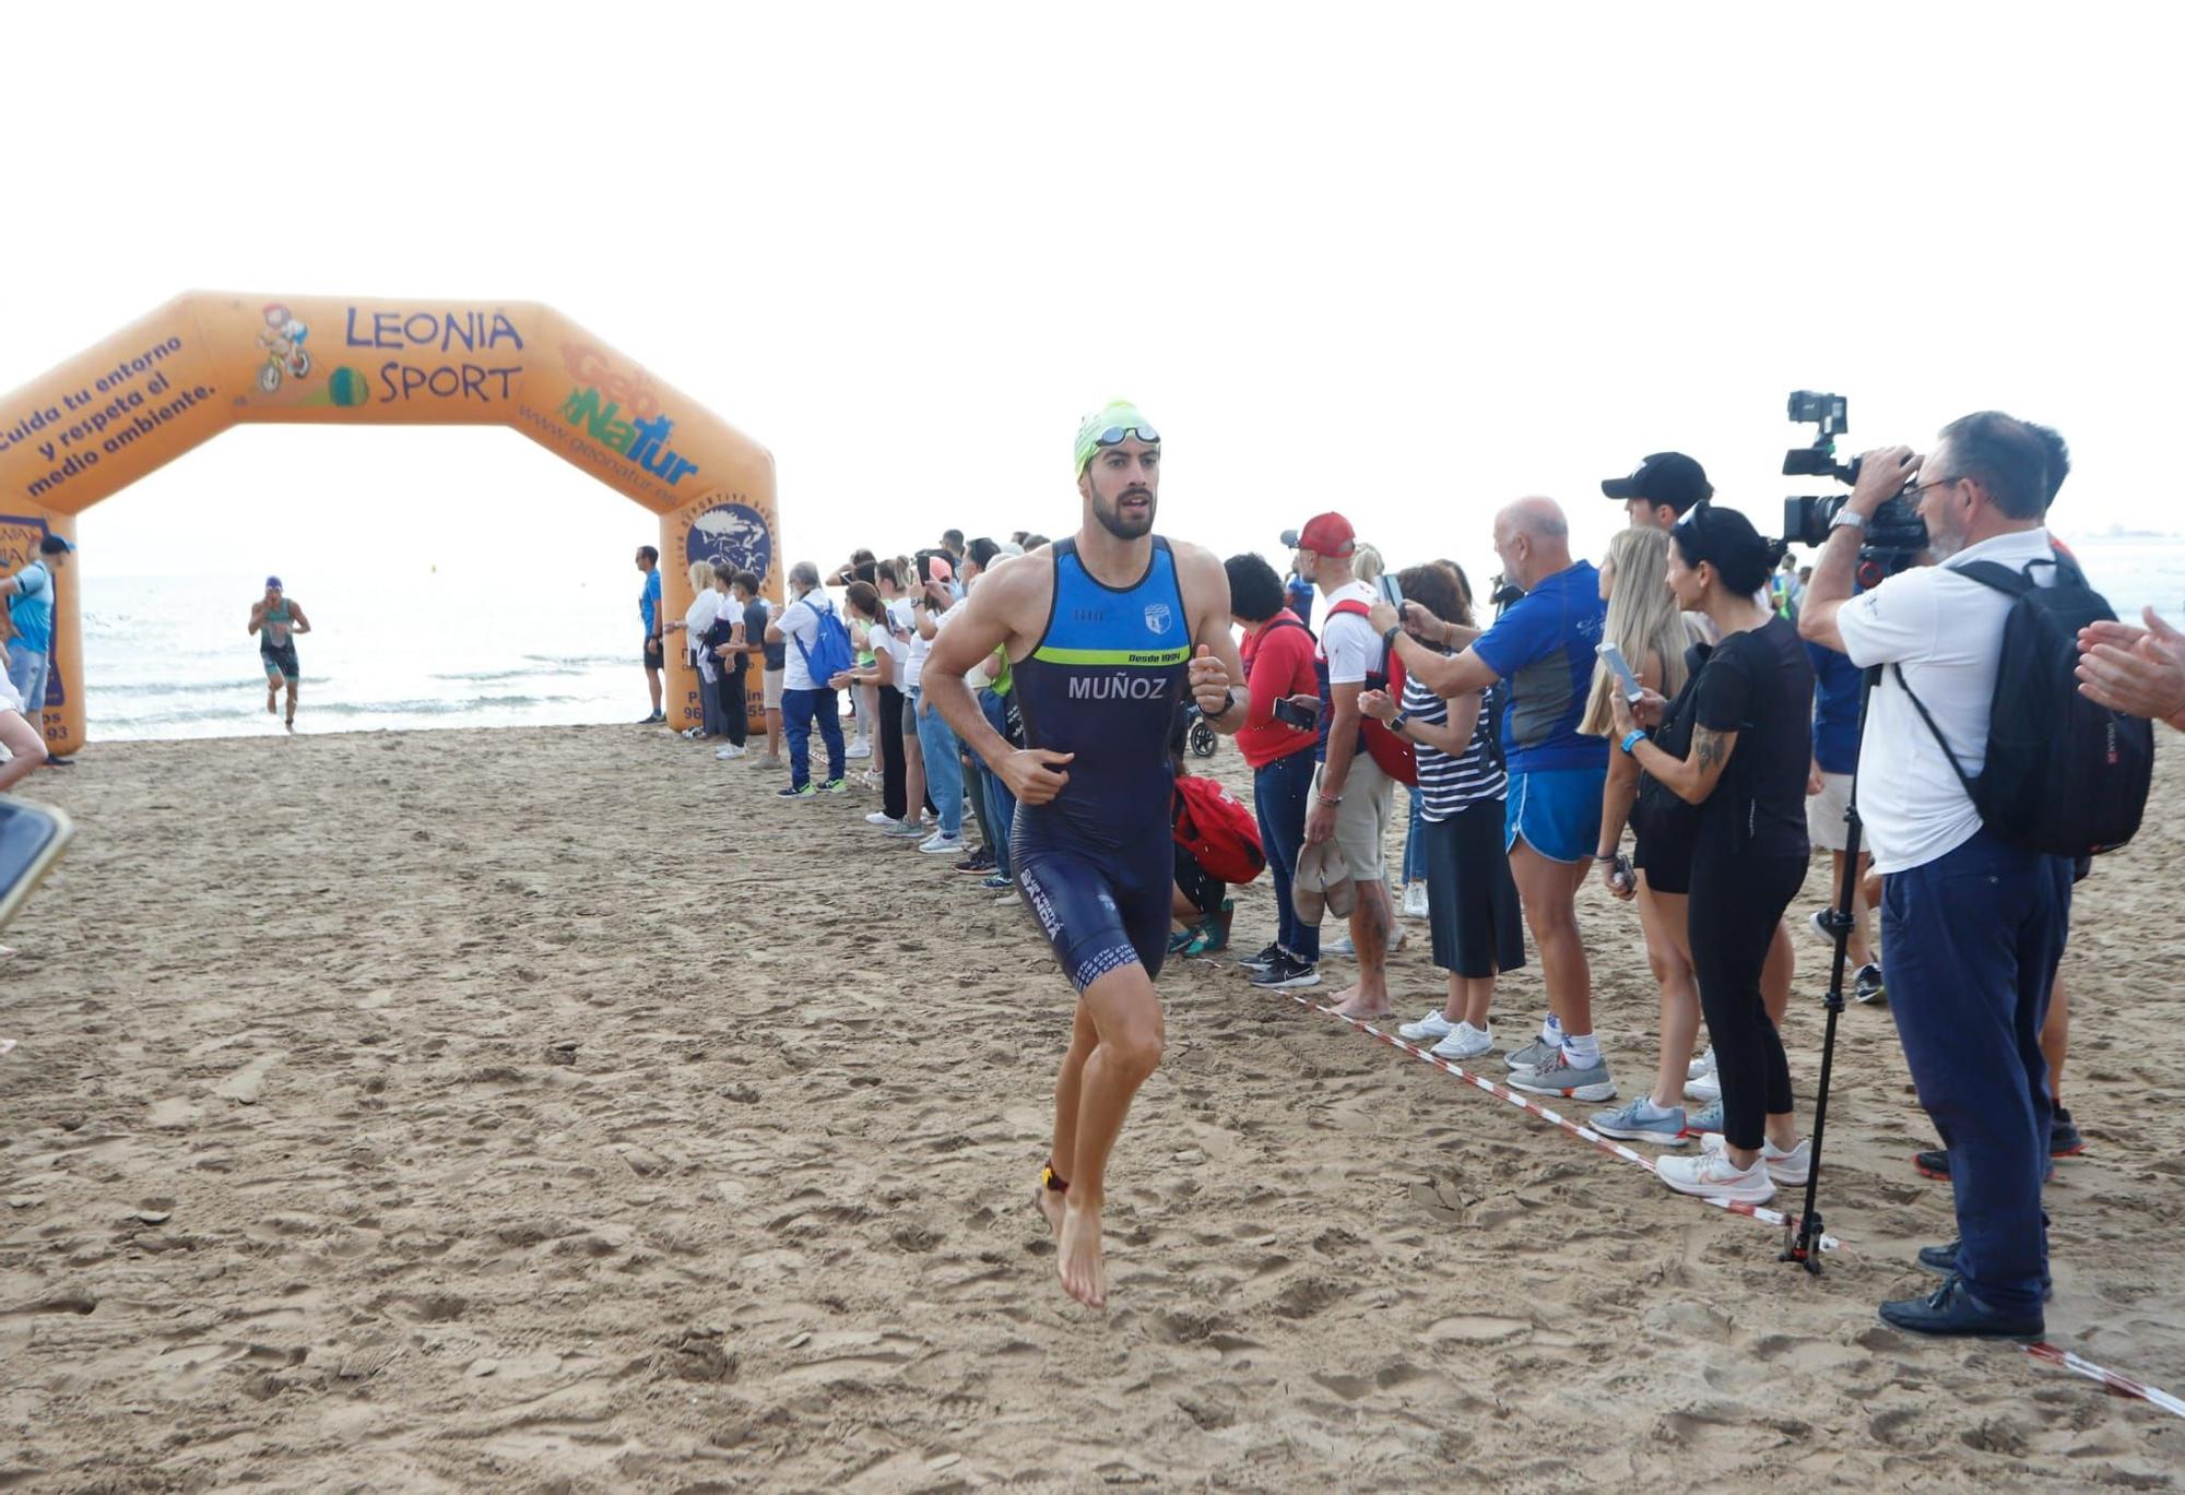
[[[1969,778],[1977,778],[1988,761],[1988,704],[2012,599],[1953,568],[1986,560],[2019,570],[2052,555],[2047,529],[1997,535],[1969,544],[1940,566],[1894,575],[1835,614],[1853,664],[1903,667],[1905,684],[1927,706]],[[2034,577],[2052,586],[2056,568],[2034,566]],[[1881,671],[1866,706],[1859,822],[1875,848],[1875,872],[1925,866],[1980,831],[1980,811],[1894,669]]]

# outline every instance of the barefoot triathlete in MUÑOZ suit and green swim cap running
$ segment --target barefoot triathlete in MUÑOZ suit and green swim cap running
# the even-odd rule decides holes
[[[1165,1040],[1154,977],[1176,879],[1169,732],[1186,682],[1217,732],[1245,717],[1228,686],[1243,680],[1228,573],[1210,551],[1154,535],[1158,492],[1160,435],[1145,415],[1125,402],[1088,415],[1077,428],[1077,535],[994,566],[924,669],[935,708],[1016,796],[1016,885],[1077,988],[1040,1209],[1062,1287],[1088,1307],[1108,1300],[1108,1152]],[[1003,647],[1025,748],[992,728],[964,684]]]

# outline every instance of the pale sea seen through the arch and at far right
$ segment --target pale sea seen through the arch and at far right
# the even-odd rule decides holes
[[[2113,527],[2060,538],[2117,616],[2137,619],[2143,605],[2185,616],[2185,535]],[[1468,553],[1457,560],[1475,577],[1490,570]],[[83,678],[63,673],[61,684],[87,691],[90,741],[282,732],[264,710],[258,643],[247,632],[264,577],[76,575]],[[297,732],[612,726],[636,723],[651,706],[636,570],[544,579],[520,566],[299,570],[286,581],[312,621],[297,638]]]

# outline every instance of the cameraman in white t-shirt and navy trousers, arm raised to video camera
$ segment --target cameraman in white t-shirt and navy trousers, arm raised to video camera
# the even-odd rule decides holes
[[[1881,894],[1881,970],[1921,1104],[1949,1147],[1956,1250],[1927,1298],[1881,1305],[1916,1333],[2043,1331],[2050,1091],[2041,1021],[2071,916],[2071,863],[2021,850],[1980,822],[1936,730],[1966,774],[1986,763],[1988,702],[2010,599],[1956,573],[1986,560],[2021,570],[2054,557],[2043,511],[2050,448],[2025,422],[1982,411],[1942,426],[1927,457],[1866,452],[1807,588],[1798,632],[1866,669],[1875,686],[1859,743],[1859,820]],[[1853,597],[1866,525],[1883,503],[1916,505],[1932,557]],[[2054,581],[2054,566],[2034,577]]]

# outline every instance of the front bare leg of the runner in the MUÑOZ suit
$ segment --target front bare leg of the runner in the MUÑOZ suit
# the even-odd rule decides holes
[[[1092,1029],[1090,1045],[1084,1043],[1086,1027]],[[1160,1001],[1145,966],[1110,970],[1077,999],[1077,1029],[1055,1082],[1055,1167],[1066,1169],[1071,1180],[1062,1196],[1055,1274],[1062,1290],[1086,1307],[1108,1303],[1099,1235],[1108,1152],[1130,1115],[1130,1099],[1160,1064],[1165,1043]]]

